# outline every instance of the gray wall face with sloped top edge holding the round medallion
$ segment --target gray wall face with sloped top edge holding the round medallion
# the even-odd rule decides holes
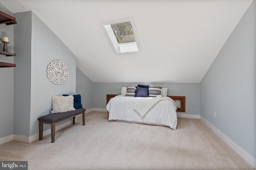
[[[51,113],[52,96],[76,93],[76,56],[34,12],[31,44],[30,135],[34,135],[38,133],[38,117]],[[69,68],[69,78],[62,85],[50,82],[46,74],[48,64],[56,59]]]

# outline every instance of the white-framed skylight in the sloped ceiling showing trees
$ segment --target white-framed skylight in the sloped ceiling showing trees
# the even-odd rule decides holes
[[[101,22],[116,53],[140,53],[133,17]]]

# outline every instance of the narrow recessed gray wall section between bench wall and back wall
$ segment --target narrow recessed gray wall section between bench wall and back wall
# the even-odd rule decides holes
[[[76,94],[81,95],[82,105],[85,109],[93,108],[93,82],[78,68],[76,68]]]

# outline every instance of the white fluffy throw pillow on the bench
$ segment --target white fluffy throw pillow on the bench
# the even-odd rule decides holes
[[[60,113],[75,110],[74,97],[70,96],[52,96],[52,113]]]

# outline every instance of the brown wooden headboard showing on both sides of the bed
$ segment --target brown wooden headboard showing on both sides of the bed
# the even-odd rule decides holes
[[[107,101],[106,104],[108,104],[108,101],[111,98],[114,98],[115,96],[117,96],[119,94],[107,94]],[[176,102],[177,104],[177,110],[179,112],[185,112],[186,111],[186,96],[168,96],[169,98],[171,98],[172,100],[174,100],[174,102]]]

